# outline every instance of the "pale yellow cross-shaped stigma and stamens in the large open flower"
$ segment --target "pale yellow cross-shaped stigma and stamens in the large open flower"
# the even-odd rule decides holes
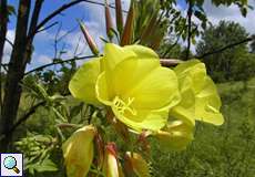
[[[125,112],[129,112],[133,115],[136,115],[136,111],[131,106],[131,104],[134,102],[134,97],[129,97],[128,103],[121,100],[119,96],[115,96],[113,100],[113,104],[118,112],[121,114],[124,114]]]

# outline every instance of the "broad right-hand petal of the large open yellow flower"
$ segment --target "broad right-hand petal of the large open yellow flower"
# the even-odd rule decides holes
[[[169,110],[181,100],[177,77],[172,70],[159,66],[129,91],[129,96],[135,98],[137,110]]]

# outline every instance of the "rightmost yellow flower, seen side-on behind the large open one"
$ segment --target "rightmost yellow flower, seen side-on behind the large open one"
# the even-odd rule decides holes
[[[222,125],[221,98],[214,82],[206,75],[204,63],[191,60],[178,64],[174,71],[182,101],[171,111],[171,116],[193,125],[195,119]]]

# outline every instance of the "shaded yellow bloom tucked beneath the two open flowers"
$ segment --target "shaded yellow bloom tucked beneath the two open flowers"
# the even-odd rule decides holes
[[[193,139],[193,127],[182,121],[169,123],[155,134],[161,149],[164,152],[185,149]]]

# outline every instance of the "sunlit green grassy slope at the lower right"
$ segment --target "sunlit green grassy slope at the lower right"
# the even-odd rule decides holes
[[[255,177],[255,79],[218,84],[223,126],[198,124],[185,152],[163,154],[153,147],[159,177]]]

